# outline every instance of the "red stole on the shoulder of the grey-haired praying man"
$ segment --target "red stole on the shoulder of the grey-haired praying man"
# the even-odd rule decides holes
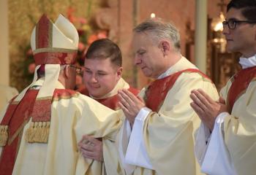
[[[151,82],[146,90],[146,106],[152,111],[158,112],[162,106],[162,103],[165,101],[165,97],[168,91],[173,88],[173,85],[178,77],[184,72],[195,72],[209,79],[206,74],[203,74],[203,72],[197,69],[185,69],[178,71],[175,74],[171,74],[165,78],[156,79],[154,82]]]

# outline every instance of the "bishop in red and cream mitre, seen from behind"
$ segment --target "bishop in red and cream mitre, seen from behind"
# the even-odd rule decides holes
[[[34,80],[0,116],[0,174],[84,174],[83,134],[113,139],[117,112],[72,90],[78,31],[64,16],[42,15],[31,34]]]

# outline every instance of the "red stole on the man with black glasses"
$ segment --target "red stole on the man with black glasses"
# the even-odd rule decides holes
[[[233,82],[228,91],[227,95],[227,107],[229,112],[232,112],[233,105],[236,100],[245,93],[246,89],[249,86],[249,83],[252,82],[256,77],[256,66],[242,69],[238,71],[238,73],[233,77]]]

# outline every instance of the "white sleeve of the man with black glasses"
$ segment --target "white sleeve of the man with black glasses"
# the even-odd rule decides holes
[[[236,175],[233,163],[230,160],[230,153],[225,144],[225,133],[223,131],[224,120],[227,115],[229,115],[227,112],[222,112],[215,120],[214,130],[211,133],[211,139],[208,141],[206,154],[201,164],[203,173]]]

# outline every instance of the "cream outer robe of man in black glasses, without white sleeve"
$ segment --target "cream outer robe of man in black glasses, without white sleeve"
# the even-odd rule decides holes
[[[231,83],[221,91],[227,99]],[[230,158],[237,174],[256,173],[256,81],[236,100],[231,114],[225,117],[224,133]]]

